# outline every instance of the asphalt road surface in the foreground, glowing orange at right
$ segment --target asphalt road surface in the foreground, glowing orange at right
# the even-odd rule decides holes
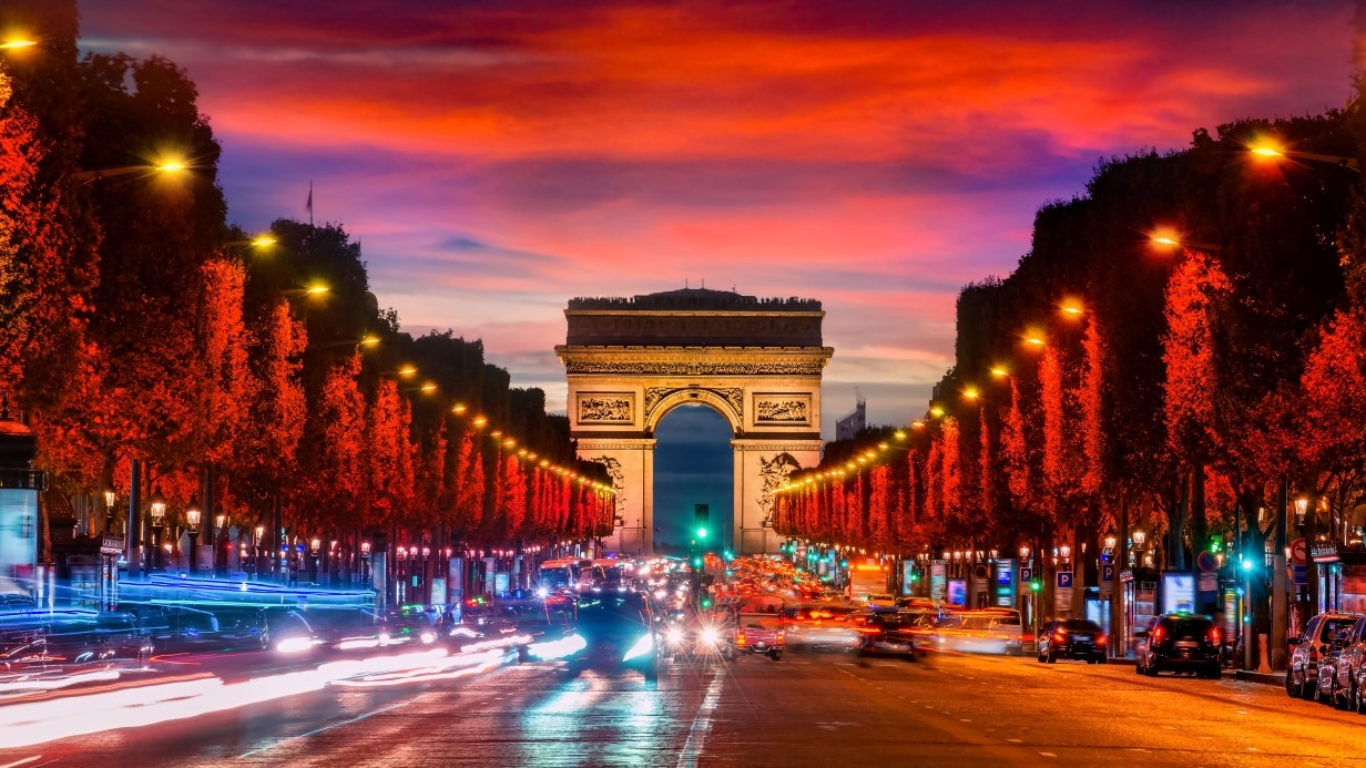
[[[328,686],[0,750],[0,768],[1366,764],[1366,716],[1228,678],[956,655],[861,664],[788,653],[660,670],[646,682],[534,663]]]

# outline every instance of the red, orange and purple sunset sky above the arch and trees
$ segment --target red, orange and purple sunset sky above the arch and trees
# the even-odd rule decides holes
[[[1352,4],[82,0],[199,87],[229,219],[361,238],[407,331],[564,409],[566,302],[686,283],[826,310],[824,432],[923,413],[960,286],[1101,157],[1343,107]],[[1135,223],[1142,227],[1147,223]]]

